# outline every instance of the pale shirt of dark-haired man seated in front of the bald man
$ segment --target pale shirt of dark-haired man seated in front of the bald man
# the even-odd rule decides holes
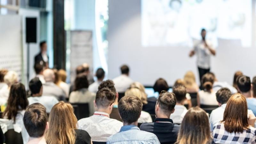
[[[50,113],[52,107],[58,103],[59,101],[53,96],[40,96],[40,97],[29,97],[28,103],[29,105],[33,103],[40,103],[46,108],[46,113]]]

